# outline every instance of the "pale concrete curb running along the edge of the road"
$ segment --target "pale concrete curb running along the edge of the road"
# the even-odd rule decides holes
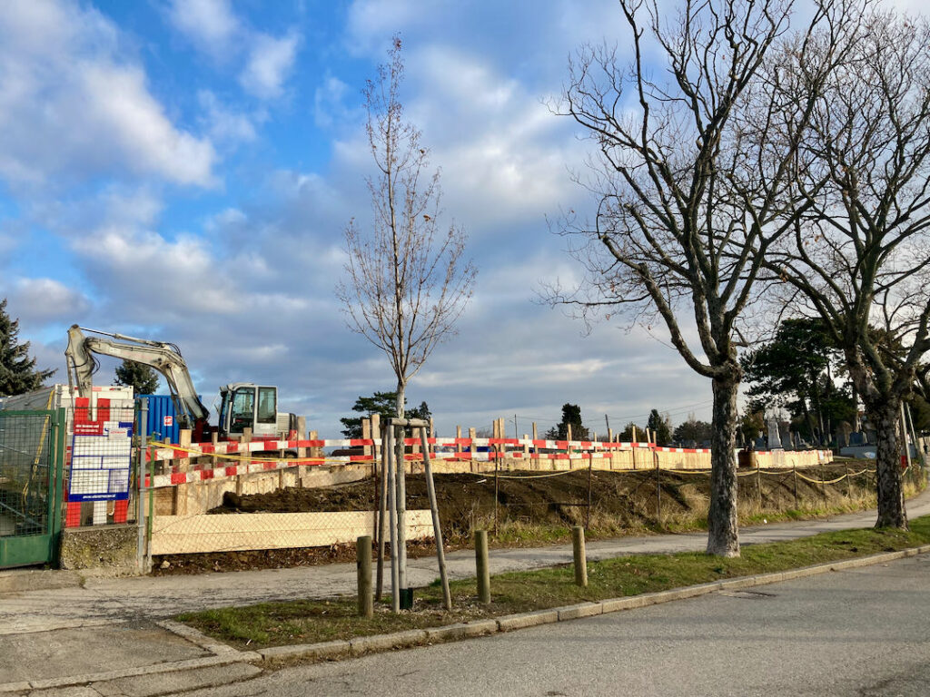
[[[177,661],[174,663],[148,665],[142,668],[127,668],[126,670],[116,670],[107,673],[94,673],[84,676],[56,677],[45,680],[32,680],[29,682],[3,683],[0,684],[0,693],[87,685],[89,683],[104,682],[119,678],[151,676],[159,673],[173,673],[233,663],[249,663],[261,667],[274,668],[295,662],[336,661],[362,656],[368,653],[428,646],[445,641],[459,641],[466,638],[489,636],[498,632],[510,632],[532,626],[550,625],[555,622],[568,622],[581,617],[592,617],[609,612],[634,610],[636,608],[658,605],[673,600],[697,598],[721,590],[739,590],[741,588],[751,588],[755,585],[777,584],[781,581],[816,576],[820,573],[858,569],[875,564],[883,564],[889,561],[896,561],[897,559],[916,557],[927,553],[930,553],[930,545],[912,547],[899,552],[883,552],[882,554],[875,554],[870,557],[830,561],[824,564],[807,566],[801,569],[790,569],[783,572],[762,573],[754,576],[728,579],[726,581],[715,581],[709,584],[689,585],[684,588],[659,591],[658,593],[644,593],[626,598],[608,598],[596,602],[583,602],[577,605],[567,605],[561,608],[550,608],[548,610],[539,610],[536,612],[521,612],[497,618],[476,620],[472,623],[458,623],[456,625],[430,627],[428,629],[410,629],[403,632],[394,632],[392,634],[358,637],[348,641],[337,640],[318,644],[275,646],[259,651],[236,651],[225,644],[219,644],[215,639],[208,638],[206,635],[187,625],[179,625],[179,623],[172,621],[163,621],[158,624],[218,655]]]

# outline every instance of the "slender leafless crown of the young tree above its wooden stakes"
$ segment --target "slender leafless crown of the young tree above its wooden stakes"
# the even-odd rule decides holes
[[[407,382],[453,325],[472,295],[475,269],[463,257],[467,236],[455,225],[440,230],[438,170],[429,175],[429,151],[404,119],[401,41],[390,63],[365,86],[365,131],[377,165],[367,178],[373,222],[353,218],[345,230],[347,281],[337,286],[349,326],[384,351],[397,378],[396,414],[404,416]]]

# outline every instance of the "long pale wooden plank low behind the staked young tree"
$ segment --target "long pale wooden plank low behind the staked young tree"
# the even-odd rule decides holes
[[[152,553],[194,554],[349,544],[374,532],[372,511],[156,516]],[[408,510],[407,539],[432,537],[429,510]]]

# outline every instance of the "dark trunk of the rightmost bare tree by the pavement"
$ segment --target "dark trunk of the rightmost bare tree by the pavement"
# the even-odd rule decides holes
[[[875,424],[875,468],[878,493],[876,528],[908,529],[908,513],[904,507],[904,484],[901,478],[901,457],[897,438],[900,408],[900,400],[888,399],[870,410],[870,420]]]

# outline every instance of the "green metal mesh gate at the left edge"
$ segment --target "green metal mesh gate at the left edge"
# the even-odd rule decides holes
[[[56,563],[64,410],[0,411],[0,569]]]

